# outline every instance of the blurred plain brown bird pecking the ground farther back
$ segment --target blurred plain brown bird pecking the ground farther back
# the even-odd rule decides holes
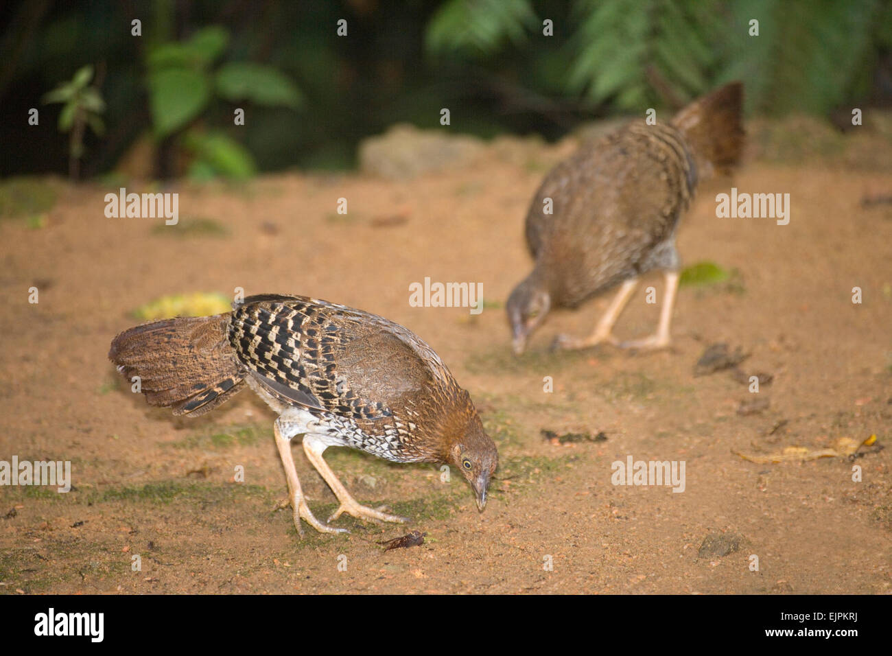
[[[622,347],[669,345],[680,259],[675,231],[697,187],[715,168],[738,162],[743,86],[703,96],[669,123],[634,122],[582,148],[545,177],[526,216],[532,273],[508,298],[515,353],[552,308],[580,303],[620,286],[591,336],[558,336],[556,348],[602,342]],[[552,213],[545,213],[550,198]],[[657,333],[619,343],[613,326],[638,278],[663,270],[665,298]]]

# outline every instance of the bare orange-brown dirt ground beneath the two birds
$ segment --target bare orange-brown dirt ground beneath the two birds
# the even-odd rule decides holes
[[[747,162],[732,181],[701,188],[682,225],[685,263],[738,273],[731,285],[681,289],[672,350],[549,353],[558,332],[591,329],[607,306],[599,298],[550,317],[515,359],[502,303],[531,266],[524,213],[561,154],[566,145],[543,148],[539,162],[493,150],[404,182],[293,173],[176,186],[178,228],[105,218],[110,187],[100,185],[66,187],[42,228],[0,221],[0,460],[71,461],[74,485],[68,494],[0,488],[0,591],[892,592],[892,449],[777,464],[734,453],[892,438],[892,209],[862,204],[889,193],[892,170]],[[717,219],[714,195],[732,185],[789,193],[789,225]],[[346,217],[335,213],[340,197]],[[186,229],[203,219],[225,233]],[[410,307],[409,284],[425,276],[483,282],[483,313]],[[649,285],[662,292],[659,276],[644,281],[619,336],[655,327]],[[28,303],[29,286],[39,303]],[[486,510],[434,466],[332,449],[328,461],[361,502],[413,521],[342,518],[350,536],[308,529],[300,539],[290,511],[275,510],[285,477],[274,415],[250,391],[201,419],[177,419],[116,378],[106,353],[136,323],[128,312],[161,295],[231,296],[237,286],[360,307],[434,346],[499,446]],[[727,372],[694,377],[716,342],[752,353],[746,370],[772,374],[758,394],[767,409],[740,415],[753,394]],[[607,440],[555,444],[543,429]],[[629,455],[685,461],[685,491],[612,485],[611,463]],[[333,494],[298,446],[295,458],[311,507],[327,517]],[[244,483],[234,482],[236,465]],[[407,528],[426,532],[425,544],[374,544]],[[701,554],[716,534],[736,551]]]

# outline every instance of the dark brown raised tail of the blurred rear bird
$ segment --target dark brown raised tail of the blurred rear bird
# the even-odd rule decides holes
[[[743,84],[731,82],[675,114],[672,124],[693,149],[698,169],[728,170],[743,150]]]

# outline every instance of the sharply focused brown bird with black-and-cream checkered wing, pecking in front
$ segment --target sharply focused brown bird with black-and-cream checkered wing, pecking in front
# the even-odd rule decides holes
[[[154,321],[111,342],[109,359],[138,376],[151,405],[198,416],[247,383],[277,412],[276,444],[293,507],[318,531],[345,532],[313,516],[294,469],[291,438],[359,519],[406,521],[359,505],[322,453],[350,446],[394,462],[457,467],[483,511],[496,446],[467,392],[434,350],[409,329],[368,312],[305,296],[256,295],[212,317]]]

